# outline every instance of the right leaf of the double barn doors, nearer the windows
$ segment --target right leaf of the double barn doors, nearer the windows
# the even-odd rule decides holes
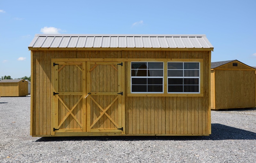
[[[122,132],[121,62],[87,62],[87,131]]]

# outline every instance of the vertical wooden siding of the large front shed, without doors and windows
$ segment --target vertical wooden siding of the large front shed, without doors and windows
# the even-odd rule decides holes
[[[51,135],[51,89],[53,88],[51,59],[58,58],[203,59],[203,97],[128,97],[127,87],[124,87],[125,126],[123,127],[127,135],[209,135],[211,133],[210,53],[208,51],[32,51],[31,135]],[[127,62],[124,62],[124,65],[126,86]]]

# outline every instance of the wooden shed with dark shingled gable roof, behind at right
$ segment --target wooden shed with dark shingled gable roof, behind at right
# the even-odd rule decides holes
[[[212,62],[212,110],[255,107],[255,71],[238,60]]]

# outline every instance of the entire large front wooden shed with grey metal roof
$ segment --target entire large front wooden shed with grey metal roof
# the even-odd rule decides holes
[[[205,35],[35,35],[31,135],[209,135]]]

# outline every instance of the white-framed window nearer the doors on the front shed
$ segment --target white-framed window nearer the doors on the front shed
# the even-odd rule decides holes
[[[164,62],[131,62],[131,93],[163,93]]]

